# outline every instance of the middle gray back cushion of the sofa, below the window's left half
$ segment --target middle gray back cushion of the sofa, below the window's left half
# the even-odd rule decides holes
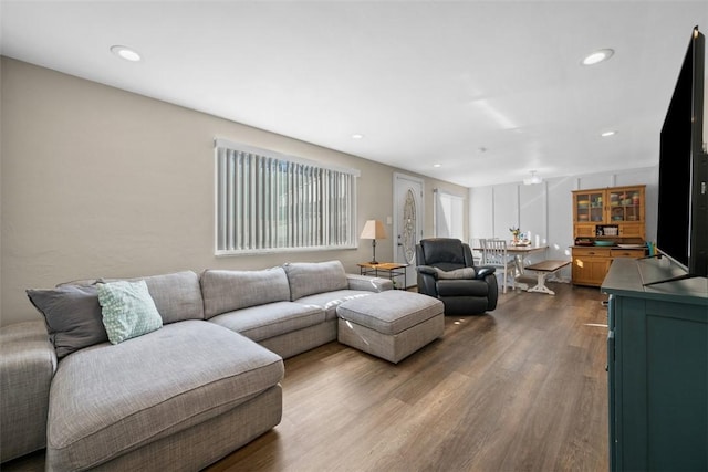
[[[262,271],[206,270],[201,274],[201,292],[207,319],[239,308],[290,300],[288,277],[282,268]]]

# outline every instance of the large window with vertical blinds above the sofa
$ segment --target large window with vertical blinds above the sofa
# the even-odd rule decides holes
[[[358,171],[215,141],[216,254],[356,247]]]

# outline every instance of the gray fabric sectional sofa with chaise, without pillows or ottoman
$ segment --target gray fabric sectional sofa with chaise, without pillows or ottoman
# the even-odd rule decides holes
[[[339,261],[142,280],[162,327],[119,344],[96,325],[110,281],[28,291],[46,324],[0,329],[1,462],[199,470],[280,422],[282,358],[335,340],[337,305],[393,287]]]

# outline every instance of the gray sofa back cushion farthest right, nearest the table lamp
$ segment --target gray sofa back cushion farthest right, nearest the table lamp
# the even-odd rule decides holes
[[[315,293],[348,287],[346,272],[340,261],[293,262],[283,265],[290,282],[290,300]]]

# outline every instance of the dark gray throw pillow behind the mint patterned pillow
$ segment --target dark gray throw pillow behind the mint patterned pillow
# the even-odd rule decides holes
[[[28,290],[27,295],[44,315],[56,357],[108,340],[95,285]]]

